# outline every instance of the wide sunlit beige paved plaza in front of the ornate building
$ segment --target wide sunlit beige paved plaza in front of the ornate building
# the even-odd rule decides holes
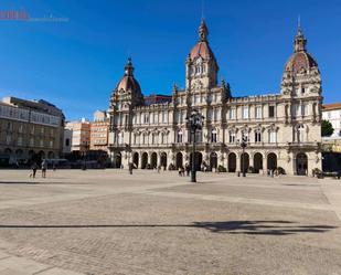
[[[0,170],[0,275],[341,275],[341,181]]]

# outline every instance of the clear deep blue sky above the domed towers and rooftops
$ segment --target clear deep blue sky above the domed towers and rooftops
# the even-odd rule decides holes
[[[0,12],[8,10],[67,21],[0,20],[0,97],[44,98],[76,119],[107,109],[128,55],[143,94],[183,87],[202,1],[1,1]],[[322,73],[324,102],[341,101],[338,0],[206,0],[210,44],[234,96],[279,92],[298,14]]]

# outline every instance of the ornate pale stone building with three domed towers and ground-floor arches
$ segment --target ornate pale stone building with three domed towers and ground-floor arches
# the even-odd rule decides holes
[[[228,172],[243,167],[255,172],[281,167],[288,174],[321,169],[321,77],[300,28],[280,93],[275,95],[233,97],[230,85],[217,81],[219,65],[207,35],[202,20],[199,41],[185,60],[185,88],[174,86],[170,102],[147,106],[128,60],[110,96],[109,152],[114,163],[127,167],[134,162],[145,169],[190,162],[187,117],[198,109],[205,117],[196,134],[198,165],[222,166]],[[247,138],[244,157],[243,137]]]

